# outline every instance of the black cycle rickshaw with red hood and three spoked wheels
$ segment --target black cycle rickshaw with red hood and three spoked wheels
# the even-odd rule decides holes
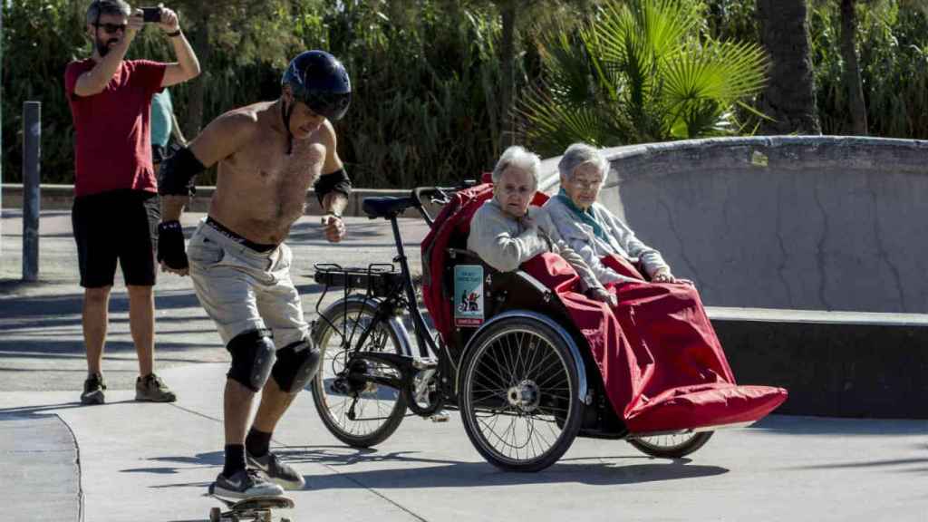
[[[434,219],[423,206],[426,197],[444,203]],[[312,392],[335,437],[369,447],[390,437],[407,410],[428,417],[457,408],[489,463],[538,471],[557,462],[578,436],[625,439],[652,456],[682,457],[700,449],[713,430],[752,424],[785,400],[782,388],[735,385],[730,371],[728,377],[706,371],[711,360],[704,368],[694,360],[682,372],[671,369],[678,375],[663,378],[657,389],[636,389],[635,368],[647,372],[660,360],[625,372],[628,382],[607,378],[592,349],[603,333],[572,319],[565,294],[555,291],[557,274],[552,279],[539,268],[544,263],[531,266],[535,259],[497,272],[466,250],[470,217],[490,197],[492,185],[483,183],[367,198],[365,213],[393,227],[393,263],[316,265],[315,279],[325,290],[313,335],[323,362]],[[545,199],[535,195],[536,203]],[[419,310],[397,221],[407,209],[419,211],[431,228],[421,252],[422,299],[433,329]],[[341,298],[320,310],[333,288]],[[724,354],[717,357],[728,368]],[[630,413],[632,399],[638,407]]]

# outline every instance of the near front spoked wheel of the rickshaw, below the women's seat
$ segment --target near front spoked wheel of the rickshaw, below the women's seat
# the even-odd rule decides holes
[[[579,375],[567,340],[545,322],[517,316],[485,327],[460,372],[461,419],[487,462],[540,471],[574,442],[584,409]]]

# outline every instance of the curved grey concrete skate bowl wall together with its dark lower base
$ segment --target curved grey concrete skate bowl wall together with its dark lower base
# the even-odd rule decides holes
[[[928,418],[928,141],[604,153],[602,202],[697,283],[740,382],[790,389],[780,412]]]

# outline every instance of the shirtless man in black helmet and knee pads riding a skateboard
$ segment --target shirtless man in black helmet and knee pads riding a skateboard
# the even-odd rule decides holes
[[[281,87],[275,101],[216,118],[189,148],[166,160],[159,175],[161,268],[189,273],[232,355],[224,398],[226,465],[213,492],[233,499],[303,488],[303,476],[268,450],[277,421],[319,363],[290,280],[290,248],[282,241],[303,215],[314,183],[329,213],[323,217],[326,238],[342,241],[341,215],[351,190],[329,123],[351,101],[342,63],[324,51],[306,51],[290,62]],[[178,219],[193,176],[214,163],[219,176],[209,215],[185,253]]]

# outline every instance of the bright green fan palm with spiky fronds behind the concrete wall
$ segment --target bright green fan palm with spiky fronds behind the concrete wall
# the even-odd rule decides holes
[[[544,154],[737,133],[736,109],[761,91],[763,50],[701,36],[699,3],[610,3],[574,31],[543,37],[544,85],[520,103],[526,141]]]

